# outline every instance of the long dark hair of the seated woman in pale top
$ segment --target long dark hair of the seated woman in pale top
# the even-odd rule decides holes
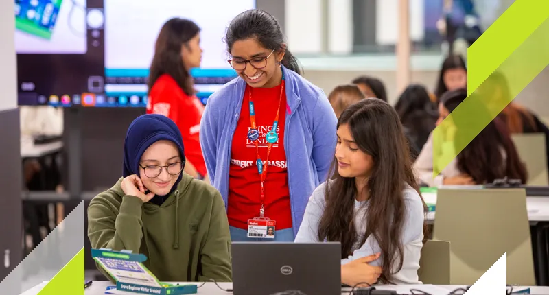
[[[349,106],[339,117],[338,128],[344,124],[349,126],[360,150],[373,158],[373,170],[366,184],[369,189],[364,220],[366,234],[360,243],[364,244],[369,235],[378,242],[382,252],[379,280],[392,283],[393,274],[402,268],[404,257],[402,241],[395,238],[401,237],[406,220],[403,191],[408,184],[419,193],[408,143],[397,112],[380,99],[362,99]],[[339,175],[335,159],[330,175],[325,191],[326,209],[318,224],[318,239],[339,241],[344,258],[352,255],[353,244],[358,238],[353,218],[358,191],[355,178]],[[425,207],[424,202],[423,205]],[[424,232],[427,237],[426,226]]]

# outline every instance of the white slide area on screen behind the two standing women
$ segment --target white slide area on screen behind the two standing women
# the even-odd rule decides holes
[[[223,41],[226,27],[237,14],[251,8],[255,0],[104,1],[106,71],[146,71],[156,37],[173,17],[190,19],[200,27],[201,68],[230,69]]]

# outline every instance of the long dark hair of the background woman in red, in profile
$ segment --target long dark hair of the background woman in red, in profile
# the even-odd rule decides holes
[[[189,40],[200,32],[200,27],[188,19],[170,19],[162,26],[156,45],[154,57],[149,70],[147,82],[149,93],[154,82],[163,74],[170,75],[187,95],[194,95],[193,78],[189,74],[183,58],[181,47],[188,46]]]

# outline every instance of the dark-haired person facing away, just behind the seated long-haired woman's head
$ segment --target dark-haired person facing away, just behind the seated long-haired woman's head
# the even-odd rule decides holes
[[[412,145],[415,158],[429,138],[439,117],[436,104],[431,102],[424,86],[412,84],[400,95],[395,104],[395,110],[404,127],[404,134]]]

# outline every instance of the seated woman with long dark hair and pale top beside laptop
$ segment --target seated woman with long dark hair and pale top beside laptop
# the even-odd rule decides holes
[[[346,285],[419,283],[426,209],[397,113],[363,99],[343,111],[337,134],[331,178],[309,198],[295,241],[339,241]]]

